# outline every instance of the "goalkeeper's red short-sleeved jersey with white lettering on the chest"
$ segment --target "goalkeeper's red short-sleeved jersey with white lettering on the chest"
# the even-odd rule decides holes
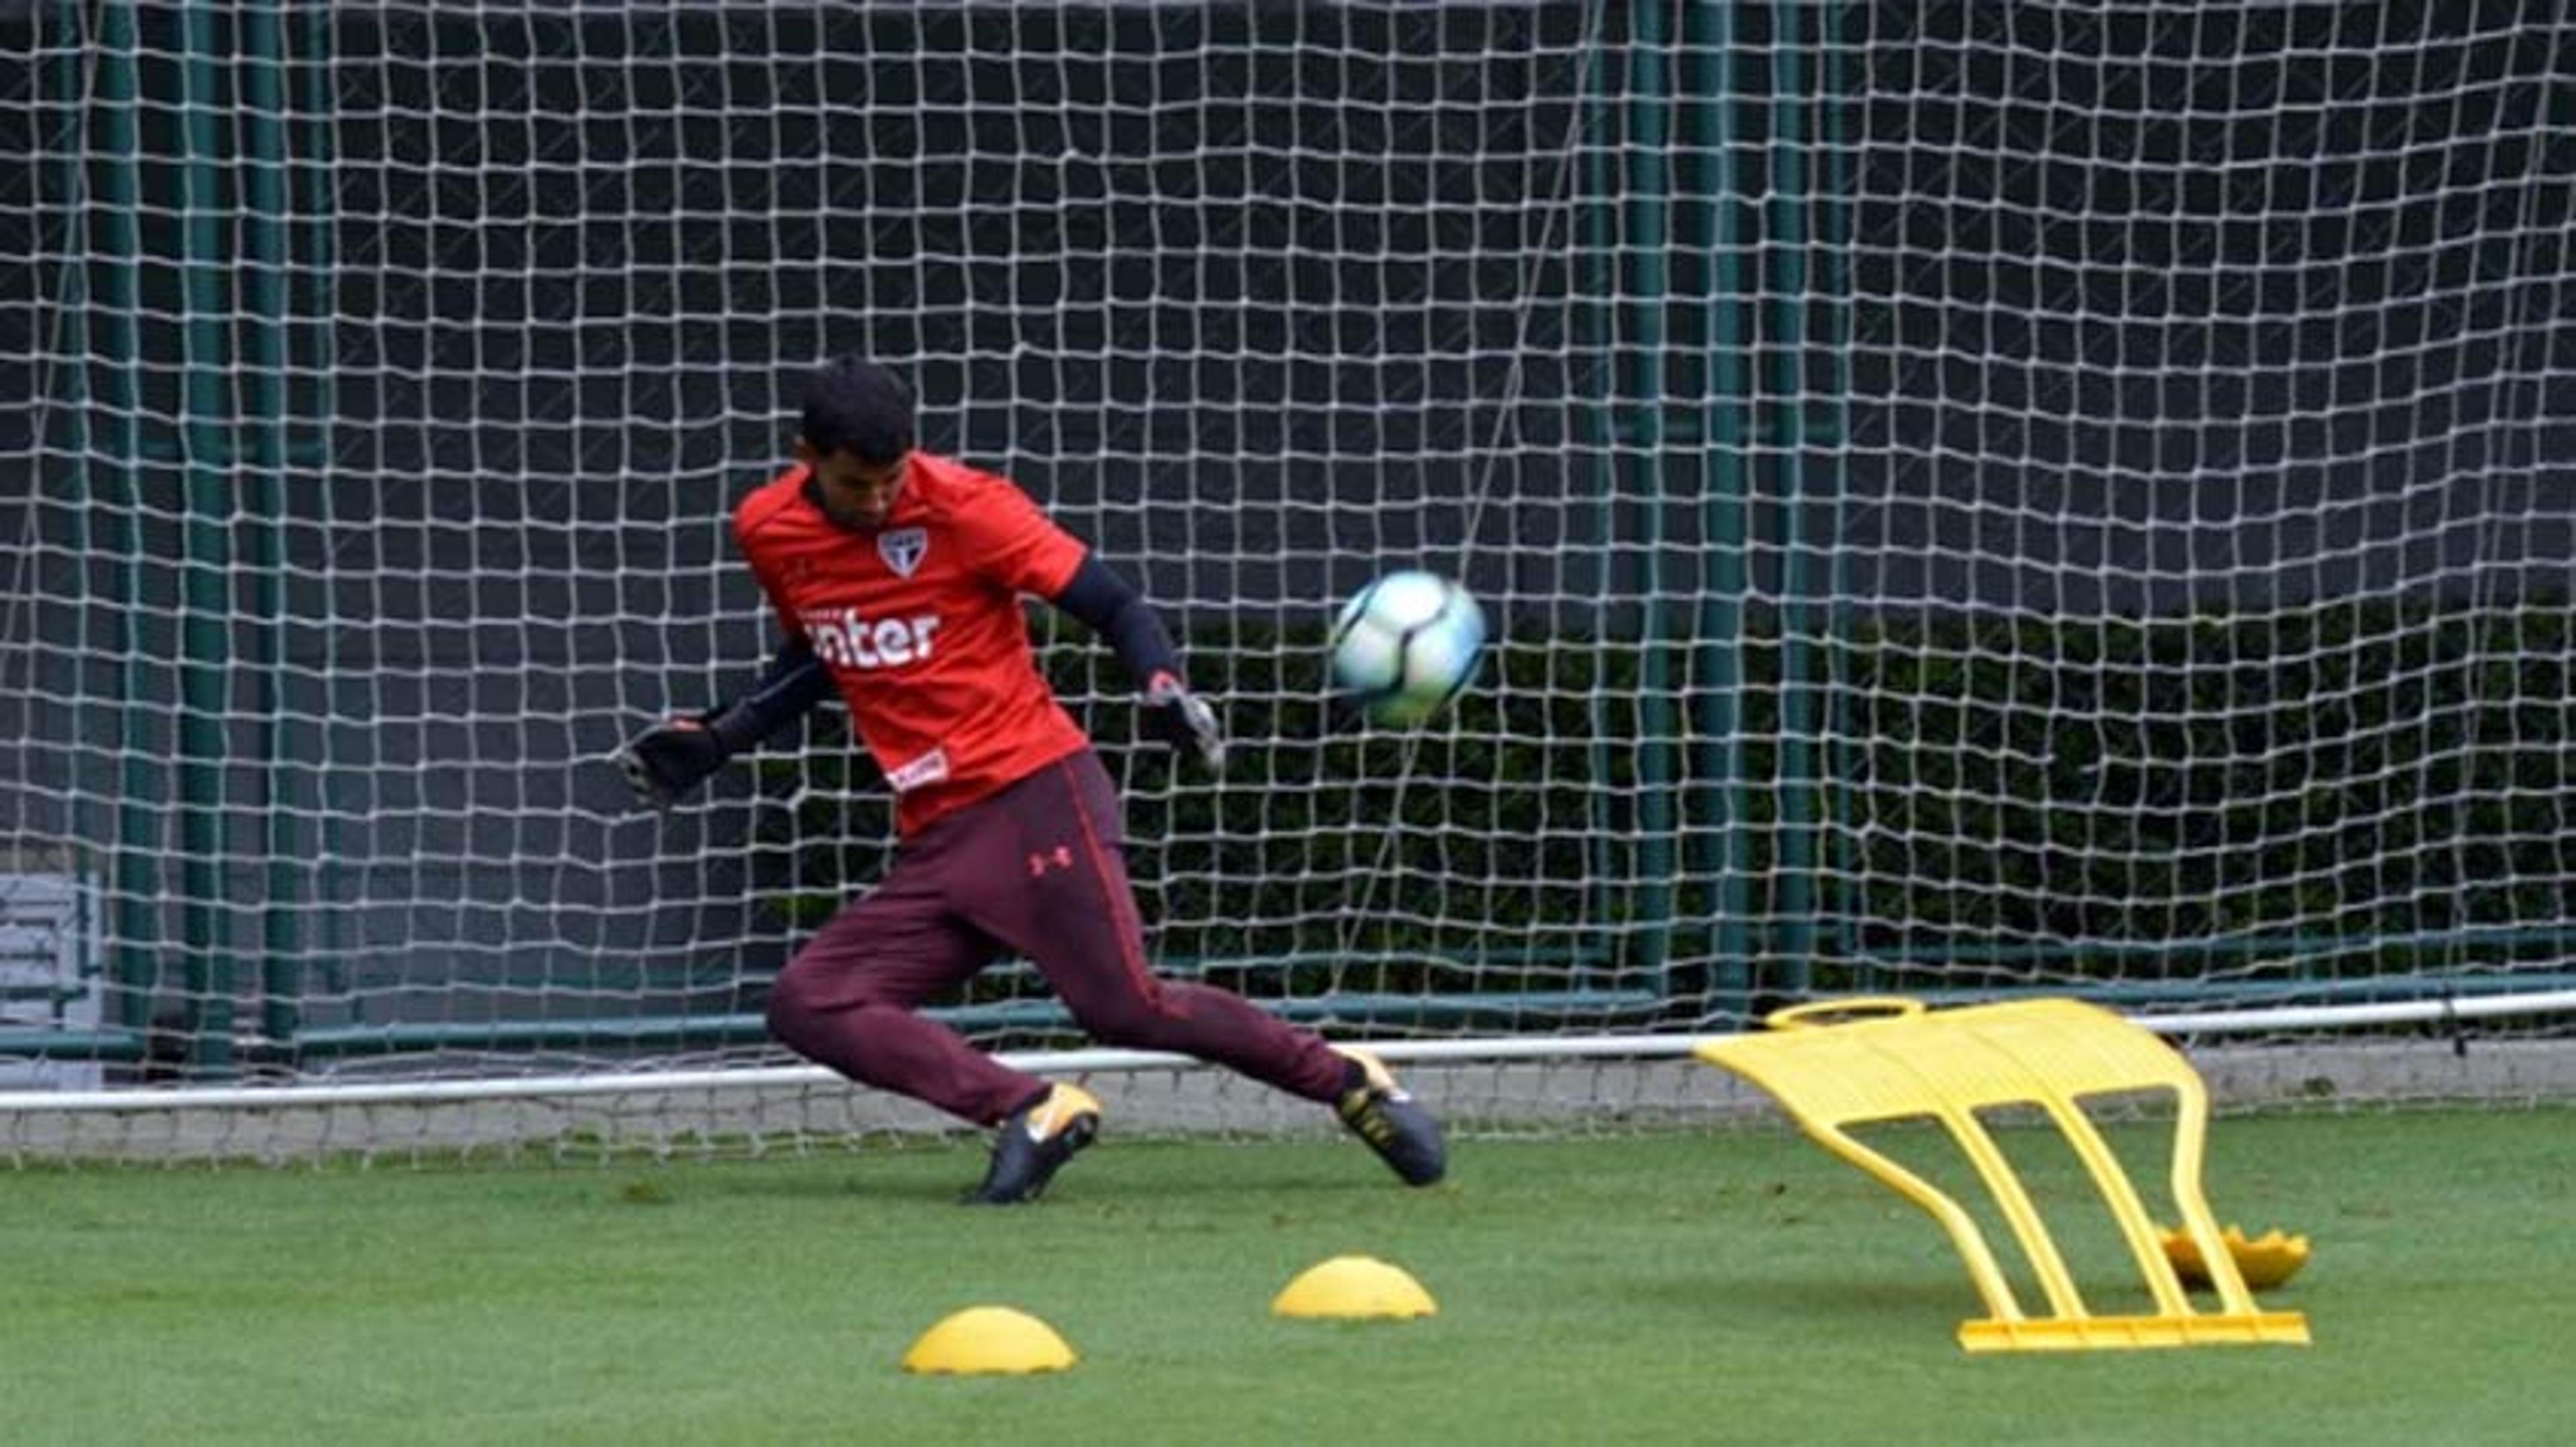
[[[1038,677],[1020,605],[1064,590],[1079,538],[1007,479],[930,453],[876,533],[824,518],[806,479],[796,466],[744,497],[734,541],[832,669],[902,834],[1090,742]]]

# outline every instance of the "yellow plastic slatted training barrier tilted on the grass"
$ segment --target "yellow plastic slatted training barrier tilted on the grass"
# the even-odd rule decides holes
[[[1839,1017],[1826,1025],[1824,1020]],[[2076,1002],[2030,999],[1924,1012],[1914,999],[1829,999],[1775,1012],[1765,1035],[1705,1040],[1692,1053],[1736,1071],[1780,1097],[1780,1105],[1826,1151],[1896,1187],[1932,1213],[1968,1259],[1968,1277],[1986,1298],[1986,1321],[1963,1321],[1958,1344],[1968,1352],[2097,1352],[2117,1347],[2200,1347],[2218,1341],[2308,1341],[2308,1318],[2295,1311],[2259,1311],[2244,1274],[2221,1241],[2218,1220],[2200,1192],[2210,1097],[2200,1074],[2154,1032]],[[2138,1187],[2102,1143],[2076,1105],[2087,1094],[2172,1089],[2174,1208],[2182,1231],[2200,1244],[2218,1311],[2195,1311],[2164,1241],[2138,1202]],[[2094,1316],[2087,1311],[2066,1259],[2040,1223],[2022,1179],[1976,1117],[1991,1107],[2045,1110],[2076,1159],[2092,1172],[2128,1241],[2156,1311],[2151,1316]],[[1844,1128],[1878,1120],[1932,1117],[1976,1164],[1986,1190],[2022,1244],[2048,1313],[2030,1316],[1994,1262],[1986,1236],[1958,1200],[1862,1146]]]

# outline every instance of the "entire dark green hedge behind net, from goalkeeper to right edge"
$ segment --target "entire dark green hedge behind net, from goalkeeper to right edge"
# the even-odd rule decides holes
[[[1708,734],[1687,639],[1515,631],[1450,718],[1388,734],[1324,695],[1316,636],[1234,626],[1193,641],[1234,736],[1224,788],[1175,788],[1131,747],[1131,708],[1090,721],[1128,783],[1164,960],[1260,994],[1692,996],[1716,968],[1736,989],[1886,984],[1870,960],[2136,981],[2267,950],[2416,968],[2463,932],[2576,935],[2571,618],[1958,615],[1798,649],[1765,621],[1739,651],[1734,749]],[[1100,649],[1061,641],[1046,659],[1066,695],[1126,695]],[[1798,749],[1777,726],[1790,659]],[[842,760],[811,754],[819,796]],[[793,863],[775,883],[801,919],[884,868],[873,793],[848,819],[778,808],[762,832],[840,839],[770,852]],[[1811,868],[1798,917],[1783,857]],[[1790,940],[1814,955],[1783,958]]]

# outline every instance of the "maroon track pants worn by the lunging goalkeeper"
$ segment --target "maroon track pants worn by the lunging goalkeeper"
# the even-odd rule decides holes
[[[778,971],[770,1032],[855,1081],[997,1125],[1046,1081],[917,1009],[1018,953],[1105,1045],[1195,1056],[1334,1099],[1345,1063],[1324,1040],[1221,989],[1146,973],[1121,839],[1118,796],[1090,749],[935,819]]]

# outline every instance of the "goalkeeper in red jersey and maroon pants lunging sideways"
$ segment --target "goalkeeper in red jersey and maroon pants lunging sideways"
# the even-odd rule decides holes
[[[1018,953],[1097,1040],[1332,1105],[1406,1184],[1437,1182],[1440,1125],[1381,1061],[1146,971],[1118,798],[1038,675],[1020,595],[1105,639],[1144,690],[1151,734],[1208,775],[1224,765],[1216,711],[1128,582],[1007,479],[914,451],[912,435],[912,391],[884,366],[842,358],[814,373],[796,466],[734,510],[786,644],[742,698],[618,752],[636,793],[665,806],[837,687],[881,765],[896,863],[778,973],[770,1032],[842,1076],[999,1128],[966,1200],[1036,1200],[1100,1130],[1100,1102],[920,1014]]]

